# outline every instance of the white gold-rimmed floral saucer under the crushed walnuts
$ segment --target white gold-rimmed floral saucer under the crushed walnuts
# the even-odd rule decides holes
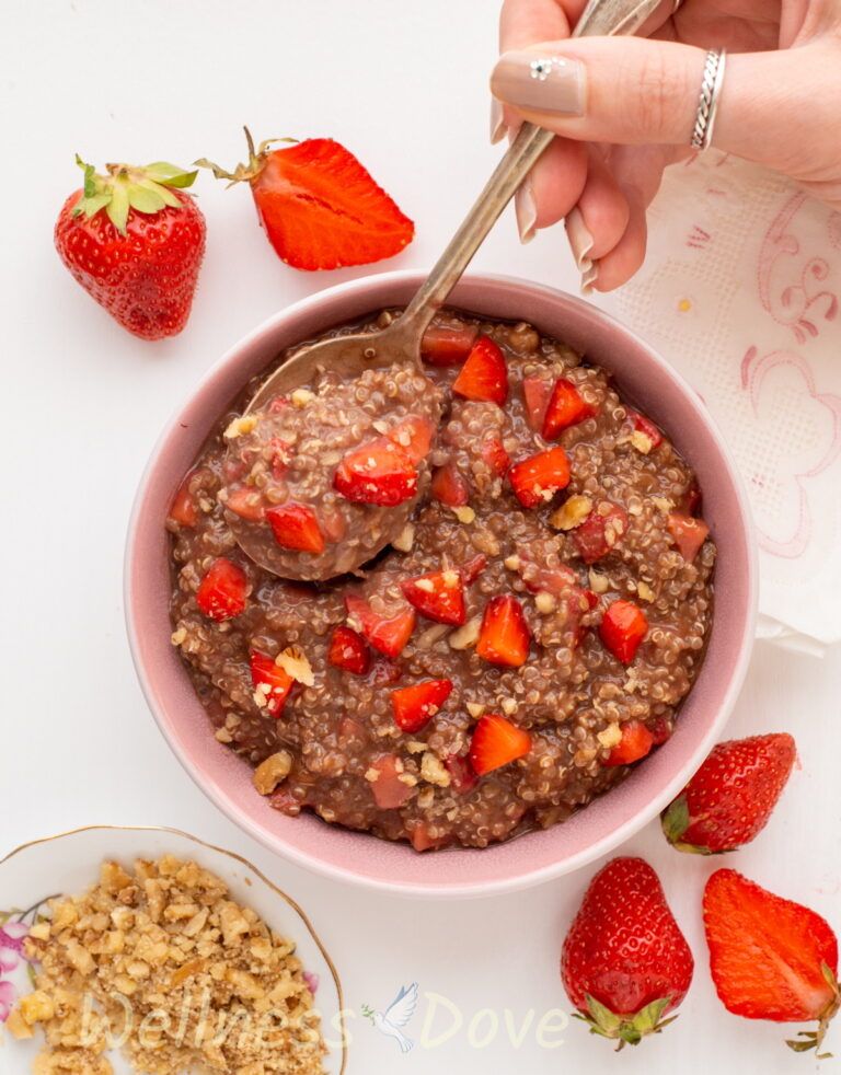
[[[214,847],[175,829],[95,825],[24,844],[0,862],[0,1075],[28,1075],[43,1044],[42,1034],[15,1041],[5,1028],[18,996],[32,989],[33,968],[23,938],[54,895],[83,893],[99,878],[105,859],[130,866],[137,858],[162,855],[192,859],[216,874],[238,903],[253,908],[268,926],[296,943],[307,980],[321,1014],[329,1047],[324,1070],[343,1075],[347,1063],[342,983],[310,921],[298,904],[240,855]],[[108,1053],[116,1075],[129,1075],[128,1063]]]

